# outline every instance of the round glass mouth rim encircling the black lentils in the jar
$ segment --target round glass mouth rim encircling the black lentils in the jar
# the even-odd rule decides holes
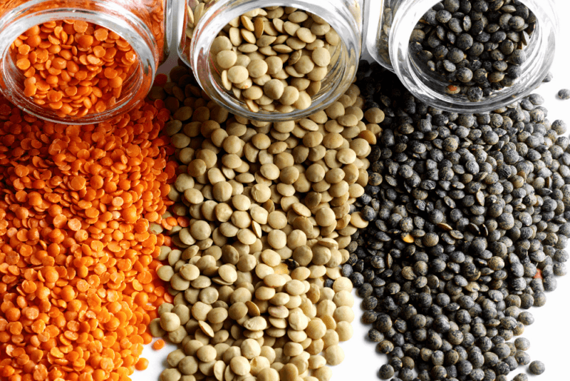
[[[537,16],[537,27],[524,51],[527,60],[520,67],[522,75],[513,86],[493,91],[481,101],[472,102],[465,95],[446,93],[450,82],[431,73],[412,57],[409,50],[409,39],[418,20],[433,6],[436,1],[423,1],[420,4],[401,4],[394,15],[393,29],[390,35],[390,59],[393,71],[404,86],[415,96],[445,111],[459,113],[483,113],[496,110],[528,96],[549,71],[554,61],[554,50],[557,34],[557,18],[551,9],[538,6],[536,1],[521,1]]]

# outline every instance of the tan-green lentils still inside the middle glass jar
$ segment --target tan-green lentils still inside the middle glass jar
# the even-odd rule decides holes
[[[296,8],[254,9],[232,20],[210,54],[219,83],[252,112],[289,113],[311,106],[340,38],[321,17]]]

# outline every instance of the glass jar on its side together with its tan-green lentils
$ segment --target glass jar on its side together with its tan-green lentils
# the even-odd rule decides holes
[[[249,119],[304,118],[353,82],[363,0],[187,0],[178,54],[207,95]],[[181,10],[182,11],[182,10]]]

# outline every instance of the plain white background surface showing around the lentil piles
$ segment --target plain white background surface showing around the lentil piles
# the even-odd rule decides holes
[[[181,1],[181,0],[178,0]],[[546,0],[544,0],[546,1]],[[554,0],[558,7],[561,20],[560,37],[556,46],[556,59],[551,68],[554,80],[544,83],[537,93],[546,100],[544,105],[549,110],[550,121],[562,119],[570,124],[570,100],[561,101],[556,98],[556,93],[561,88],[570,88],[570,2],[568,0]],[[173,48],[177,44],[172,44]],[[170,59],[162,66],[161,72],[167,71],[176,64],[175,51],[172,51]],[[568,136],[568,133],[566,133]],[[570,263],[569,263],[570,265]],[[508,376],[509,380],[519,372],[527,372],[529,380],[542,381],[569,381],[569,343],[570,343],[570,303],[567,293],[570,292],[570,275],[557,278],[558,288],[553,293],[546,293],[547,303],[542,308],[532,308],[534,315],[533,325],[526,327],[522,337],[531,341],[528,351],[532,360],[541,360],[546,365],[546,372],[540,376],[530,375],[527,366],[519,367]],[[361,298],[356,293],[353,322],[354,336],[348,342],[341,343],[346,358],[341,365],[333,367],[331,381],[344,381],[355,379],[358,381],[376,381],[378,368],[388,362],[388,357],[375,352],[375,343],[367,339],[368,328],[361,322],[362,310]],[[144,372],[135,371],[131,376],[133,381],[155,381],[166,365],[165,358],[175,347],[167,345],[162,350],[152,350],[150,345],[145,347],[142,355],[150,361],[150,365]]]

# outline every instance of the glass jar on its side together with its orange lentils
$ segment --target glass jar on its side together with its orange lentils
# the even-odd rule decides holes
[[[129,111],[167,56],[170,2],[0,0],[1,93],[56,123]]]

